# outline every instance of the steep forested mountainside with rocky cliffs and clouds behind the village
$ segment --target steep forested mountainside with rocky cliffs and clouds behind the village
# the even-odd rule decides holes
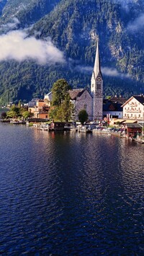
[[[143,0],[1,0],[0,15],[1,104],[59,78],[89,88],[98,37],[104,96],[144,92]]]

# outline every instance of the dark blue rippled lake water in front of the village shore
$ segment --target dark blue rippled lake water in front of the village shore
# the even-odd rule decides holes
[[[144,255],[144,145],[0,123],[0,255]]]

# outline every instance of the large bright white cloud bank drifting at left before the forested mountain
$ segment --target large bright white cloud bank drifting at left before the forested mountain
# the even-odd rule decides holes
[[[32,59],[41,64],[65,62],[63,53],[53,45],[50,38],[37,40],[35,37],[27,37],[27,33],[21,30],[0,35],[0,49],[0,61]]]

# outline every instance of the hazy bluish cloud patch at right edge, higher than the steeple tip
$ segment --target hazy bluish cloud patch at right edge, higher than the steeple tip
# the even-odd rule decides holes
[[[144,14],[141,14],[134,21],[130,22],[127,26],[127,30],[131,32],[136,32],[144,29]]]

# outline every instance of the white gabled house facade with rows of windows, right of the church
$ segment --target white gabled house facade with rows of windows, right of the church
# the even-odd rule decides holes
[[[123,118],[130,120],[144,120],[144,95],[130,97],[123,105]]]

